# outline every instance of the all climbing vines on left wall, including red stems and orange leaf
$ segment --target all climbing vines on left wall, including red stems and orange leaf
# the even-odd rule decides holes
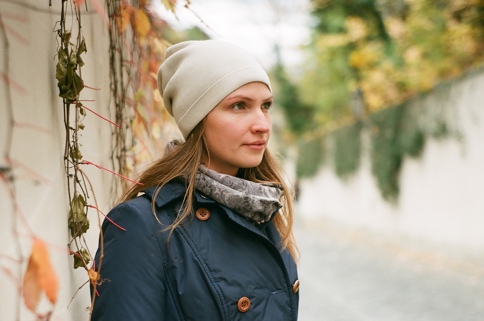
[[[161,2],[165,4],[166,10],[175,10],[174,0],[161,0]],[[44,3],[44,5],[46,6],[48,3]],[[65,228],[70,236],[67,253],[72,255],[75,269],[81,268],[86,271],[84,285],[91,283],[93,287],[91,303],[93,303],[97,292],[96,286],[103,281],[99,275],[102,254],[101,260],[94,262],[93,250],[95,251],[95,249],[88,247],[85,237],[86,232],[90,228],[92,229],[93,225],[100,228],[104,214],[99,210],[95,190],[90,178],[86,175],[85,168],[89,166],[96,167],[100,171],[108,170],[113,177],[119,177],[119,181],[113,181],[113,184],[120,186],[119,189],[113,188],[113,195],[119,195],[121,189],[125,187],[125,184],[120,182],[134,182],[129,177],[136,177],[140,167],[160,156],[165,145],[164,142],[169,137],[176,136],[178,130],[164,108],[156,88],[156,71],[163,61],[167,46],[170,46],[170,43],[164,39],[170,39],[169,41],[174,43],[200,38],[207,39],[207,36],[196,28],[181,33],[170,30],[166,22],[151,10],[150,0],[107,0],[106,8],[99,0],[59,0],[58,3],[61,4],[59,6],[61,10],[59,21],[55,23],[54,27],[58,43],[55,55],[55,77],[58,94],[62,99],[65,133],[62,156],[67,180],[67,194],[69,195],[69,210],[65,213],[68,221],[68,226]],[[41,8],[27,3],[15,4],[36,12],[55,15],[51,8]],[[188,5],[189,2],[186,7]],[[12,217],[10,219],[15,254],[0,253],[2,259],[0,269],[1,273],[7,275],[18,289],[18,297],[15,299],[15,320],[20,320],[22,301],[38,320],[49,320],[51,317],[53,318],[52,311],[58,302],[60,288],[55,271],[58,266],[52,264],[49,256],[50,247],[56,245],[49,244],[37,237],[36,231],[29,226],[27,218],[21,211],[20,205],[22,204],[19,204],[19,199],[17,199],[16,171],[24,172],[23,176],[28,176],[35,184],[51,183],[51,181],[11,156],[13,146],[15,146],[14,128],[29,128],[47,134],[51,134],[51,131],[44,128],[42,124],[21,123],[15,120],[15,108],[21,106],[14,106],[13,102],[16,97],[12,98],[12,91],[24,95],[27,90],[12,77],[12,75],[15,76],[15,72],[12,73],[10,69],[9,40],[18,40],[22,45],[28,45],[29,41],[14,28],[4,24],[3,17],[7,16],[9,19],[23,23],[28,19],[8,12],[3,15],[4,12],[1,11],[0,45],[4,55],[1,59],[0,82],[4,85],[2,100],[6,106],[7,119],[2,124],[5,123],[7,128],[4,131],[6,136],[3,137],[2,142],[4,143],[2,147],[5,148],[2,149],[0,182],[11,199]],[[92,63],[85,59],[90,47],[84,39],[82,17],[84,14],[94,13],[98,15],[97,19],[101,19],[109,32],[110,60],[97,61],[97,63],[111,66],[109,76],[112,104],[110,107],[111,111],[114,111],[113,115],[106,110],[102,112],[95,110],[91,100],[83,99],[86,91],[100,90],[92,88],[91,84],[83,79],[82,73],[83,66]],[[107,77],[108,75],[101,76]],[[103,90],[109,89],[103,88]],[[86,117],[88,114],[100,117],[103,119],[102,125],[112,128],[113,170],[103,168],[92,163],[90,159],[86,159],[84,152],[90,146],[88,146],[89,142],[82,140],[82,134],[98,129],[94,128],[89,117]],[[106,149],[108,148],[109,146],[106,146]],[[91,216],[92,212],[88,215],[89,211],[97,214],[95,222],[89,221],[88,216],[91,219],[96,217],[96,215]],[[113,224],[116,225],[115,222]],[[123,229],[121,226],[118,228]],[[23,233],[24,231],[25,233]],[[30,255],[25,256],[22,253],[21,237],[28,237],[33,241]],[[102,245],[101,235],[101,251]],[[57,246],[57,248],[61,251],[66,250],[63,246]],[[8,264],[4,264],[5,262]],[[14,270],[11,266],[15,266],[16,269]],[[24,268],[26,269],[24,270]],[[51,303],[50,306],[42,302],[43,296]],[[50,309],[49,312],[39,313],[38,309],[44,309],[45,306]]]

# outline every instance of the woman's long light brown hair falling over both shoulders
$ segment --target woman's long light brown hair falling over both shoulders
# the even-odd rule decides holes
[[[159,186],[161,188],[161,186],[177,177],[183,175],[189,177],[186,182],[186,193],[182,202],[182,209],[177,215],[175,222],[166,227],[166,230],[170,230],[169,234],[171,235],[173,230],[181,225],[185,219],[189,216],[193,218],[192,203],[195,196],[195,177],[199,166],[202,164],[204,153],[209,155],[210,160],[210,154],[208,153],[203,138],[203,122],[199,122],[180,147],[154,161],[139,175],[137,181],[143,185],[133,184],[121,196],[120,203],[135,198],[139,192],[147,188],[153,186]],[[284,173],[284,169],[280,162],[266,149],[262,156],[262,161],[258,166],[242,169],[242,178],[256,183],[274,183],[284,186],[284,196],[281,199],[283,207],[273,217],[272,221],[279,231],[279,234],[281,234],[282,249],[287,248],[294,260],[297,261],[299,251],[293,233],[293,189],[289,188],[281,173]],[[160,188],[153,195],[151,203],[153,213],[156,213],[154,200]]]

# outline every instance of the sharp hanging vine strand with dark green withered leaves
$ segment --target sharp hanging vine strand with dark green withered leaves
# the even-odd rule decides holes
[[[79,143],[80,132],[85,129],[82,121],[87,111],[95,112],[84,105],[87,102],[80,99],[81,91],[85,87],[88,87],[84,84],[81,77],[81,68],[84,65],[82,55],[87,52],[87,47],[82,33],[80,1],[61,1],[61,20],[59,21],[59,29],[57,29],[59,50],[57,54],[56,78],[58,80],[59,96],[62,98],[64,111],[64,167],[67,177],[67,192],[70,200],[68,224],[71,240],[67,246],[70,253],[74,256],[74,268],[82,267],[87,271],[87,275],[95,291],[100,278],[99,269],[95,271],[94,262],[91,262],[92,255],[84,238],[84,233],[86,233],[90,226],[87,215],[89,208],[97,210],[99,206],[91,181],[83,169],[81,169],[81,165],[95,164],[83,160],[81,145]],[[71,10],[72,15],[70,16],[73,21],[66,21],[66,10],[69,9]],[[98,115],[97,113],[95,114]],[[99,210],[97,211],[99,215]],[[100,227],[100,218],[98,219],[98,224]],[[98,262],[98,264],[100,263]],[[95,293],[92,296],[92,302],[94,298]]]

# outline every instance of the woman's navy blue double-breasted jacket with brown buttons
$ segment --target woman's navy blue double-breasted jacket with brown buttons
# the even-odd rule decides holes
[[[296,321],[299,291],[296,264],[280,251],[272,221],[254,226],[242,216],[196,191],[194,219],[168,232],[151,210],[155,188],[121,203],[105,220],[102,284],[97,287],[92,321]],[[185,187],[163,186],[156,215],[170,225],[181,207]],[[99,262],[100,249],[96,253]],[[241,312],[241,298],[250,306]],[[246,302],[247,303],[247,302]],[[242,309],[243,310],[243,309]]]

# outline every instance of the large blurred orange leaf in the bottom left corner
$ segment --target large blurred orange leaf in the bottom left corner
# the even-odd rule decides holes
[[[35,239],[23,281],[24,302],[30,311],[35,311],[42,290],[52,304],[57,302],[59,281],[50,262],[47,246]]]

